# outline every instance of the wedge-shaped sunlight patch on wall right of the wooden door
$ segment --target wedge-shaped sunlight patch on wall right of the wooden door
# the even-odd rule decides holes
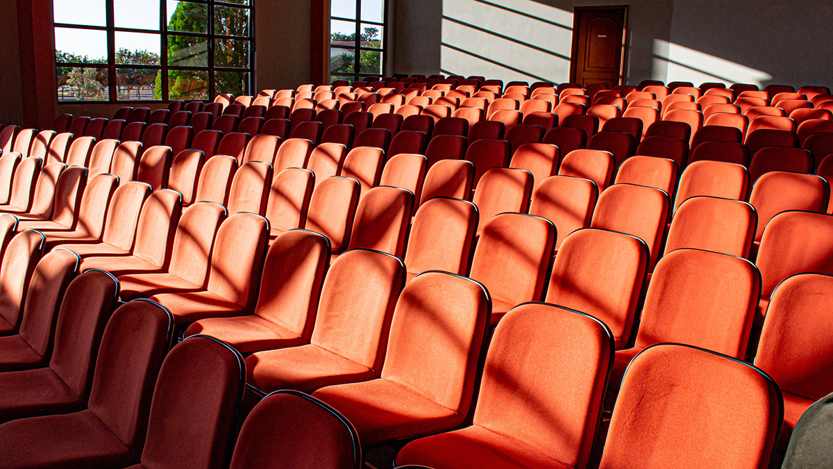
[[[652,78],[666,83],[686,81],[699,85],[706,82],[722,82],[727,85],[752,83],[761,86],[772,76],[725,58],[655,39]]]

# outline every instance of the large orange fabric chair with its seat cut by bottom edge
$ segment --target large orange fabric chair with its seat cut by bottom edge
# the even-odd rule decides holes
[[[492,338],[472,425],[408,443],[397,465],[585,467],[612,350],[610,330],[590,316],[516,307]]]

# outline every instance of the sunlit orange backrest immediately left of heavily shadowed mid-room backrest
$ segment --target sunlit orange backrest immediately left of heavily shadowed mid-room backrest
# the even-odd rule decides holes
[[[356,179],[342,176],[331,176],[312,191],[306,229],[327,236],[333,254],[350,244],[360,191]]]

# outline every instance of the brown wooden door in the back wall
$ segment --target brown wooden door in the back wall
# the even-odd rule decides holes
[[[576,7],[570,79],[582,87],[621,84],[627,7]]]

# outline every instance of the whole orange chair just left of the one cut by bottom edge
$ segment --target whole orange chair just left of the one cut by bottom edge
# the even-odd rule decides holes
[[[313,396],[356,426],[362,445],[451,430],[469,413],[489,324],[489,296],[442,272],[402,290],[379,379],[328,386]]]

